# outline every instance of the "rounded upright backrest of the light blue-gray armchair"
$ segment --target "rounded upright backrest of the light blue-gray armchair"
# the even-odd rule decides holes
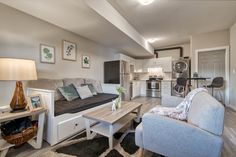
[[[197,94],[190,106],[188,123],[192,123],[216,135],[222,135],[224,128],[224,106],[209,93]]]

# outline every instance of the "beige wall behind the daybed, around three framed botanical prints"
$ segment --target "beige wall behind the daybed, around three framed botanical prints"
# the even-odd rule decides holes
[[[103,81],[103,62],[115,50],[0,4],[0,57],[36,60],[38,78],[86,77]],[[77,61],[62,60],[62,39],[77,44]],[[39,44],[56,47],[56,64],[39,61]],[[82,54],[91,58],[91,68],[81,68]],[[9,104],[14,82],[0,81],[0,106]]]

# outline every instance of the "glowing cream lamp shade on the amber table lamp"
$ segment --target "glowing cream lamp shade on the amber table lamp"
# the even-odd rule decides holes
[[[0,80],[37,80],[35,61],[0,58]]]

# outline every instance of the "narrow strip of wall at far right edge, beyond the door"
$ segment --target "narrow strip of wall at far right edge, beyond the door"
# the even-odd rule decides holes
[[[230,29],[230,105],[236,110],[236,23]]]

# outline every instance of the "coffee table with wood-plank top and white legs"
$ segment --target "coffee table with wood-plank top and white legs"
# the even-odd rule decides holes
[[[113,134],[118,132],[126,124],[137,118],[140,121],[141,103],[122,102],[122,107],[116,111],[112,111],[112,104],[97,110],[91,111],[83,115],[86,124],[87,139],[92,138],[92,132],[109,138],[109,148],[113,148]],[[131,114],[137,110],[137,114]],[[98,124],[90,126],[90,120],[97,121]]]

